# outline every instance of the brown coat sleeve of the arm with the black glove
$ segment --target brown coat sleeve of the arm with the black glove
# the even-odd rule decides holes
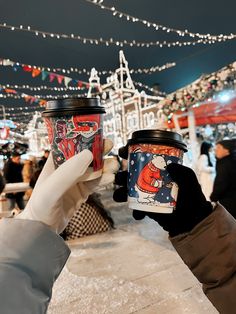
[[[236,221],[220,205],[190,233],[170,239],[223,314],[236,311]]]

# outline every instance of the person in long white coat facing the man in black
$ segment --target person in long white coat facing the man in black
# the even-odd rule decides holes
[[[197,161],[197,173],[202,192],[210,200],[215,179],[215,161],[212,156],[213,145],[204,141],[200,147],[200,156]]]

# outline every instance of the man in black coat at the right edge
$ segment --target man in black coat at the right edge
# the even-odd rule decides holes
[[[236,139],[217,142],[215,155],[216,178],[210,199],[219,201],[236,218]]]

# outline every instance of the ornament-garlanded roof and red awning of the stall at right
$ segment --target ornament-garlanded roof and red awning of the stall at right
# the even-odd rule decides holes
[[[236,122],[236,62],[168,95],[161,104],[168,115],[168,127],[188,127],[186,113],[192,111],[195,124]]]

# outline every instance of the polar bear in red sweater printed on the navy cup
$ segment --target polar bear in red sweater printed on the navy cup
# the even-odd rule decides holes
[[[138,202],[154,202],[156,193],[164,184],[161,170],[165,170],[166,166],[165,159],[156,155],[144,166],[135,185],[135,190],[139,195]]]

